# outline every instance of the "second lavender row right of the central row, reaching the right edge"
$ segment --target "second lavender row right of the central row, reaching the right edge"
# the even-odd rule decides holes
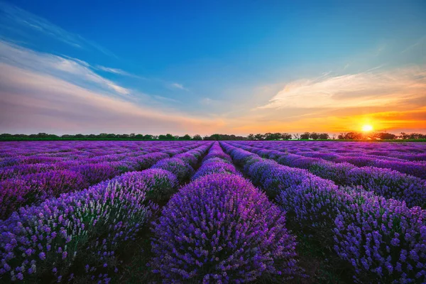
[[[249,143],[230,143],[261,157],[292,168],[303,168],[321,178],[342,186],[362,186],[386,198],[405,201],[409,207],[426,206],[426,180],[396,170],[375,167],[356,167],[350,163],[333,163],[320,158],[283,153],[274,149],[251,147]],[[260,144],[256,144],[260,146]]]

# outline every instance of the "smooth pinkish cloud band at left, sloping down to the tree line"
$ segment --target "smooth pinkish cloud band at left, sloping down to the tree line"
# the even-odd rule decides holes
[[[0,129],[3,132],[206,133],[222,121],[143,107],[65,80],[0,63]]]

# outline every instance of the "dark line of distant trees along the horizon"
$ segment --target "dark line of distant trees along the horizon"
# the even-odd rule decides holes
[[[426,134],[422,133],[405,133],[401,132],[396,135],[387,132],[375,132],[375,133],[361,133],[361,132],[347,132],[340,133],[339,135],[333,134],[330,136],[328,133],[317,133],[317,132],[304,132],[304,133],[257,133],[249,134],[248,136],[236,136],[234,134],[212,134],[210,136],[200,136],[195,134],[190,136],[185,134],[184,136],[173,136],[170,133],[161,135],[151,134],[115,134],[115,133],[100,133],[100,134],[64,134],[58,136],[49,133],[37,133],[37,134],[0,134],[0,141],[26,141],[26,140],[157,140],[157,141],[231,141],[231,140],[251,140],[251,141],[273,141],[273,140],[419,140],[426,139]]]

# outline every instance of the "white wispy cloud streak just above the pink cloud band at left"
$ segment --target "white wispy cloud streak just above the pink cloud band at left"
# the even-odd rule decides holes
[[[54,75],[81,87],[95,88],[110,94],[129,96],[131,93],[129,89],[97,75],[89,69],[87,62],[48,53],[38,53],[2,40],[0,40],[0,62],[46,75]]]

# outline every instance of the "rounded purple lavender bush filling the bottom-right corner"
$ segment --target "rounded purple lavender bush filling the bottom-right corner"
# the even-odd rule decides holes
[[[334,222],[334,249],[356,282],[426,283],[426,210],[359,194]]]

